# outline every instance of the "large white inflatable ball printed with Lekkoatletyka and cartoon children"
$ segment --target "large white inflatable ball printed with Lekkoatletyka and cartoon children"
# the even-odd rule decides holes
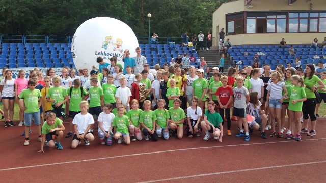
[[[122,56],[126,49],[130,57],[136,56],[135,48],[138,41],[132,29],[120,20],[109,17],[96,17],[80,25],[72,39],[71,52],[77,69],[92,66],[98,68],[97,57],[110,63],[112,56],[118,57],[118,63],[123,66]]]

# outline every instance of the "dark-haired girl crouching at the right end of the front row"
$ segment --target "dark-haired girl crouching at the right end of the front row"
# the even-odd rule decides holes
[[[267,124],[267,115],[264,110],[260,111],[261,102],[259,101],[258,92],[251,92],[249,97],[248,114],[255,117],[255,120],[249,125],[249,134],[253,133],[253,129],[259,130],[259,125],[261,125],[260,137],[266,139],[265,127]]]

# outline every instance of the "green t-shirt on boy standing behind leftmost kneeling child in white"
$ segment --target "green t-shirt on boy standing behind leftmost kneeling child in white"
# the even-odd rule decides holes
[[[69,111],[79,112],[80,110],[80,102],[83,101],[82,95],[80,94],[80,87],[74,88],[72,87],[71,94],[70,94],[70,87],[67,89],[67,94],[70,95],[70,105]],[[86,89],[83,87],[83,96],[87,95]]]

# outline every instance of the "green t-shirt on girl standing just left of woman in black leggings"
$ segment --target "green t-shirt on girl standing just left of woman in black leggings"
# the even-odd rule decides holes
[[[290,96],[288,109],[291,111],[302,111],[303,102],[297,102],[295,104],[292,104],[291,101],[306,97],[305,88],[301,86],[291,86],[290,89],[288,90],[288,93],[289,93],[288,95]]]

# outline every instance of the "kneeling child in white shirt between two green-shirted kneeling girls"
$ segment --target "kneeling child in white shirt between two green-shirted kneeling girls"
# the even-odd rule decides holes
[[[197,137],[202,134],[200,125],[202,108],[198,106],[198,100],[198,97],[192,97],[192,105],[187,109],[187,127],[185,131],[189,138],[192,138],[195,133]]]

